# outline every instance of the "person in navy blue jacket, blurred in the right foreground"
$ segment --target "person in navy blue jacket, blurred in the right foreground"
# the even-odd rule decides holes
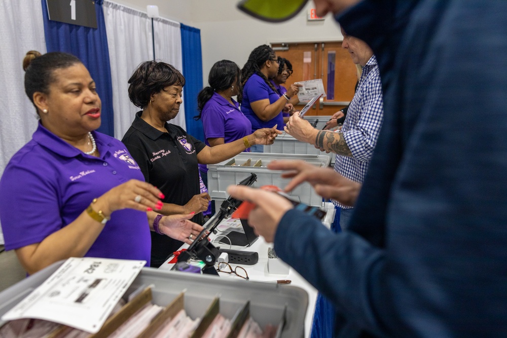
[[[271,169],[354,203],[349,231],[273,193],[231,195],[334,302],[336,336],[507,336],[507,2],[314,2],[374,50],[384,123],[360,192],[330,169]]]

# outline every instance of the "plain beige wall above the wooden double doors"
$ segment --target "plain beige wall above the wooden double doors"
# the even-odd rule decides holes
[[[255,47],[274,42],[341,41],[331,16],[324,21],[306,20],[307,7],[284,23],[265,23],[237,10],[238,0],[112,0],[146,12],[157,5],[160,16],[201,29],[203,84],[216,61],[228,59],[243,67]]]

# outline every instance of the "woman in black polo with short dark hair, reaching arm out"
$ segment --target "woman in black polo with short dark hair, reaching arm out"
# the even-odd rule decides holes
[[[162,210],[158,210],[162,214],[195,212],[192,220],[202,224],[202,211],[207,209],[210,198],[200,194],[198,163],[225,161],[253,144],[273,143],[280,133],[264,128],[243,139],[209,147],[183,128],[167,123],[176,117],[183,102],[185,78],[177,69],[164,62],[146,61],[134,71],[129,84],[129,98],[142,110],[135,115],[122,141],[144,179],[165,195]],[[152,267],[159,267],[183,244],[154,232],[151,235]]]

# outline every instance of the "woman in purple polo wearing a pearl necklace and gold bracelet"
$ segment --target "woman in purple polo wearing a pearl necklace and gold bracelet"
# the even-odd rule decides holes
[[[152,211],[162,208],[160,190],[144,182],[123,143],[95,131],[101,101],[83,63],[31,51],[23,68],[40,121],[0,180],[0,221],[6,249],[25,270],[83,256],[149,265],[150,230],[192,243],[202,230],[193,215]]]

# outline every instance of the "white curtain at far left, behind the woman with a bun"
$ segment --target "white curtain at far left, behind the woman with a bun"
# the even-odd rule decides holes
[[[25,94],[26,52],[46,53],[41,0],[0,1],[0,176],[10,158],[37,129],[35,108]],[[0,228],[0,244],[4,236]]]

